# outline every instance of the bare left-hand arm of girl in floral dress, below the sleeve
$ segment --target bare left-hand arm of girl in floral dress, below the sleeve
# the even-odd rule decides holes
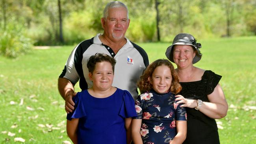
[[[134,144],[143,144],[141,134],[140,134],[141,122],[142,122],[142,119],[132,120],[132,142]]]

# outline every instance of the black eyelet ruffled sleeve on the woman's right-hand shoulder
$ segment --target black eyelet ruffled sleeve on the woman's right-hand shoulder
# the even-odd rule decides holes
[[[202,76],[203,83],[206,83],[206,95],[211,94],[215,87],[218,85],[219,81],[221,80],[220,75],[215,74],[211,70],[206,70],[204,75]]]

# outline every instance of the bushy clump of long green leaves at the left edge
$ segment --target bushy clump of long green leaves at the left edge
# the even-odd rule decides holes
[[[32,49],[33,42],[26,35],[26,30],[20,24],[8,24],[6,30],[0,30],[0,54],[7,57],[17,57]]]

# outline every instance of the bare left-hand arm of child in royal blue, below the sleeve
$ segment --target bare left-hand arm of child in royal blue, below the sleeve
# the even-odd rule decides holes
[[[77,127],[79,118],[67,120],[67,134],[74,144],[77,144]]]

